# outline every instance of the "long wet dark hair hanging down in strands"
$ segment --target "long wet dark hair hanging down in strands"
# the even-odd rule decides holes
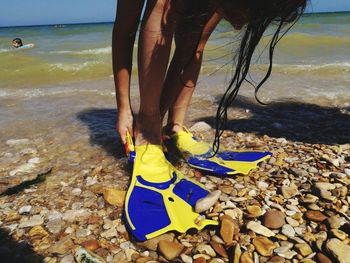
[[[248,22],[243,29],[242,40],[238,53],[236,54],[235,73],[217,109],[216,131],[213,142],[214,154],[219,150],[220,137],[226,128],[227,110],[236,98],[242,83],[248,81],[246,78],[249,73],[251,60],[264,32],[270,25],[276,25],[276,31],[272,34],[268,45],[269,66],[267,72],[257,85],[248,81],[254,86],[255,98],[260,103],[262,102],[257,98],[257,93],[271,75],[275,47],[304,13],[307,1],[308,0],[248,0],[249,5],[254,6],[254,10],[251,10],[253,19]],[[284,29],[285,27],[286,29]]]

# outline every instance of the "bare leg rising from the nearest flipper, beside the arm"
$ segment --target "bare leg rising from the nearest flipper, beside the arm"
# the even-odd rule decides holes
[[[139,39],[140,110],[136,145],[160,144],[160,95],[169,62],[174,12],[170,0],[149,0]]]

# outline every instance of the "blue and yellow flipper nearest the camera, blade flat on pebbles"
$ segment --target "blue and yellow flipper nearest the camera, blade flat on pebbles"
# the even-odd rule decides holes
[[[165,158],[161,145],[136,146],[135,153],[125,220],[137,240],[218,224],[194,212],[197,200],[209,192],[177,171]]]

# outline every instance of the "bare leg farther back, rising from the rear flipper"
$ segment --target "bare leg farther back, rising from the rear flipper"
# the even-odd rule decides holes
[[[200,72],[205,44],[220,20],[221,15],[213,12],[208,17],[202,32],[195,32],[197,35],[182,28],[176,29],[176,51],[168,70],[161,99],[162,117],[169,109],[168,128],[171,131],[182,130]]]

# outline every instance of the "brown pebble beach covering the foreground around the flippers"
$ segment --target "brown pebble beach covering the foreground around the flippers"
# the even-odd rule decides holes
[[[248,120],[249,112],[235,108],[231,114]],[[227,149],[273,153],[247,176],[208,175],[177,159],[182,173],[210,191],[221,190],[206,212],[220,225],[143,243],[132,239],[122,220],[131,167],[122,152],[108,153],[108,139],[91,145],[86,134],[67,147],[55,140],[8,139],[0,158],[7,174],[0,178],[4,262],[74,262],[82,251],[94,261],[78,262],[349,262],[350,144],[335,143],[348,134],[340,130],[332,144],[309,143],[317,131],[291,131],[281,118],[271,125],[277,123],[306,142],[224,133]],[[208,124],[192,124],[198,137],[213,138]],[[112,134],[113,126],[108,130]]]

